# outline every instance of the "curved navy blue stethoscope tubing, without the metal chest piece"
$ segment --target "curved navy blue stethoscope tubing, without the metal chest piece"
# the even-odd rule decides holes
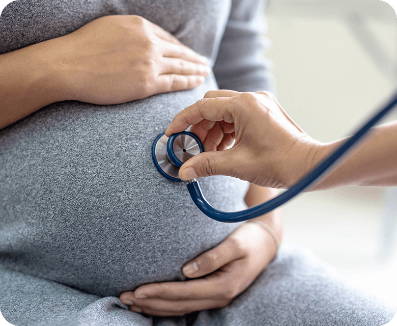
[[[371,127],[373,127],[381,118],[383,118],[389,111],[391,111],[391,109],[396,104],[397,92],[393,95],[393,97],[388,102],[388,104],[386,104],[385,107],[381,108],[379,112],[374,115],[373,118],[366,122],[350,139],[348,139],[341,147],[339,147],[337,150],[335,150],[335,152],[328,156],[321,164],[319,164],[315,169],[310,171],[306,176],[304,176],[301,180],[295,183],[286,192],[265,203],[238,212],[223,212],[212,207],[208,203],[208,201],[204,198],[200,185],[198,185],[197,181],[193,181],[187,184],[190,196],[193,202],[204,214],[209,216],[211,219],[219,222],[235,223],[247,221],[266,214],[277,208],[278,206],[288,202],[290,199],[294,198],[296,195],[306,189],[331,165],[333,165],[339,157],[345,154],[354,144],[356,144],[363,137],[363,135],[368,130],[370,130]]]

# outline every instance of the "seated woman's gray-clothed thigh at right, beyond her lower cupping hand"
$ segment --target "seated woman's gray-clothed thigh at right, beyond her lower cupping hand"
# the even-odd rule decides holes
[[[229,306],[202,311],[194,326],[380,326],[395,307],[346,282],[302,249],[283,246],[259,278]]]

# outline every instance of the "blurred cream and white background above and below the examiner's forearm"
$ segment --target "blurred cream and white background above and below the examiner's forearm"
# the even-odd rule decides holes
[[[277,99],[314,139],[351,134],[397,89],[397,17],[387,3],[270,0],[265,14]],[[286,243],[397,307],[397,188],[307,193],[284,212]]]

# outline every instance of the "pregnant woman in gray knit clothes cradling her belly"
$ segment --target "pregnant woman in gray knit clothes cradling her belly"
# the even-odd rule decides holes
[[[284,246],[273,259],[278,212],[258,224],[212,221],[153,164],[155,137],[207,91],[272,90],[260,12],[256,0],[16,0],[4,9],[0,311],[9,322],[392,318],[306,252]],[[228,177],[201,186],[222,210],[272,194]]]

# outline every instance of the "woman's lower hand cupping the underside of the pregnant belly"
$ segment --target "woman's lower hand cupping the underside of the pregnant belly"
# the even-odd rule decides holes
[[[271,235],[257,224],[246,223],[182,268],[192,280],[143,285],[122,293],[120,300],[132,311],[156,316],[224,307],[258,277],[275,254]]]

